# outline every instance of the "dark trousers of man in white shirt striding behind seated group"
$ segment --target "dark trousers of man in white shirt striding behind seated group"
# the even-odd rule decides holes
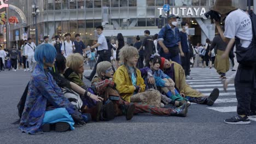
[[[94,78],[94,75],[96,74],[96,69],[97,69],[98,63],[103,62],[103,61],[111,62],[110,57],[112,56],[112,54],[110,51],[102,50],[102,51],[98,51],[97,53],[99,55],[98,59],[97,59],[97,63],[94,65],[94,70],[92,70],[89,80],[92,80],[92,78]],[[113,65],[112,65],[112,68],[113,68]],[[114,70],[114,68],[113,68],[113,70]]]

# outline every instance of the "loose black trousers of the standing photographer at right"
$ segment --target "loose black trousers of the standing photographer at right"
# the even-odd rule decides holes
[[[237,99],[237,114],[249,115],[250,111],[256,111],[256,68],[239,64],[236,77],[235,89]]]

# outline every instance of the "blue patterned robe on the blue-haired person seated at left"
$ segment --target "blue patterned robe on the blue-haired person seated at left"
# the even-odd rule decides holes
[[[75,109],[74,105],[63,97],[60,87],[56,84],[49,71],[44,71],[37,65],[31,75],[19,129],[28,134],[42,133],[40,127],[47,105],[55,108],[65,108],[69,115],[74,113]]]

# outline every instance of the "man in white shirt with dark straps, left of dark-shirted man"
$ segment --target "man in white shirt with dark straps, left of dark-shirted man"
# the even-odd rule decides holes
[[[64,57],[68,57],[75,51],[74,42],[70,40],[71,34],[66,33],[65,38],[66,40],[63,42],[61,46],[61,53]]]

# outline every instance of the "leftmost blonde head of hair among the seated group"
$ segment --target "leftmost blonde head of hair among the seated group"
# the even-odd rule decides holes
[[[75,72],[78,71],[81,64],[84,63],[84,57],[80,53],[72,53],[67,57],[66,65]]]

